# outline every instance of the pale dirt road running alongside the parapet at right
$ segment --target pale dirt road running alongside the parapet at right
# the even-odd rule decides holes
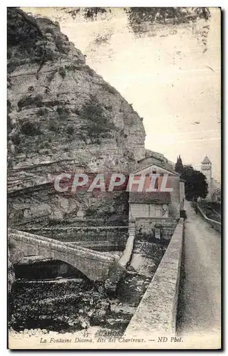
[[[221,327],[221,235],[185,201],[185,277],[180,295],[179,333],[219,337]]]

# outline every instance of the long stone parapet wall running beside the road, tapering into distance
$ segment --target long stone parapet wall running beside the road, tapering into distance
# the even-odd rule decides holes
[[[125,330],[125,337],[175,335],[182,256],[183,219],[177,224],[165,255]]]

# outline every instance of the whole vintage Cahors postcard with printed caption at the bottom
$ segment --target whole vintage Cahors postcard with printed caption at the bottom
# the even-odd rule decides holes
[[[10,349],[221,348],[221,9],[8,7]]]

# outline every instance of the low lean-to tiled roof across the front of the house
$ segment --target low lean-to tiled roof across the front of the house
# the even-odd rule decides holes
[[[129,202],[138,204],[170,204],[170,192],[130,192]]]

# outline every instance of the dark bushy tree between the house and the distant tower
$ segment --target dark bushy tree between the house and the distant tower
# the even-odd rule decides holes
[[[208,193],[207,178],[201,172],[195,170],[191,165],[184,165],[181,178],[185,179],[185,198],[206,198]]]

